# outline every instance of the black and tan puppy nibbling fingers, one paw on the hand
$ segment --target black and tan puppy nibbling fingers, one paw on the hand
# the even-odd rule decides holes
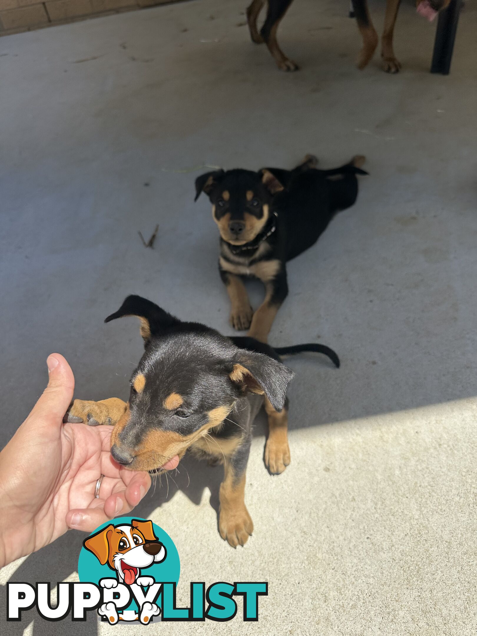
[[[265,463],[282,473],[290,462],[287,386],[293,373],[279,354],[312,350],[339,366],[323,345],[273,350],[252,338],[226,338],[197,322],[182,322],[141,298],[128,296],[106,322],[135,315],[145,352],[130,381],[128,403],[74,400],[66,421],[112,424],[111,455],[130,470],[173,469],[186,450],[223,462],[219,532],[231,546],[244,545],[253,523],[245,507],[245,469],[252,424],[262,404],[269,434]]]

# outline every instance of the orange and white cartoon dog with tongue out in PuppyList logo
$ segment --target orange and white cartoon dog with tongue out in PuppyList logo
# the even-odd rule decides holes
[[[130,524],[114,526],[111,523],[85,539],[83,546],[96,556],[101,565],[107,563],[111,570],[116,571],[116,578],[99,581],[100,586],[108,589],[117,587],[118,583],[142,587],[152,585],[155,579],[152,576],[142,576],[141,570],[153,563],[161,563],[167,556],[165,547],[154,534],[153,523],[137,519],[132,519]],[[154,603],[144,602],[139,615],[125,610],[118,616],[116,605],[109,602],[99,607],[98,614],[106,616],[111,625],[120,619],[139,619],[143,625],[147,625],[153,616],[160,614],[160,609]]]

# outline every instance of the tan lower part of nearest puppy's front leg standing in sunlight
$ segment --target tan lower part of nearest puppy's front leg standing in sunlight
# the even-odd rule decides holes
[[[224,469],[224,480],[220,485],[219,532],[232,548],[243,546],[253,532],[253,522],[245,507],[245,473],[235,478],[230,462]]]

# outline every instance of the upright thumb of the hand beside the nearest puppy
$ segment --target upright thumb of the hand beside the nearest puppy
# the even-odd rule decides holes
[[[63,416],[68,410],[74,391],[74,375],[71,367],[61,354],[51,354],[46,360],[50,374],[48,386],[39,397],[27,420],[34,418],[52,423],[62,424]]]

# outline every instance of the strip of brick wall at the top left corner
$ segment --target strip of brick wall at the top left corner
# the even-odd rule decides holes
[[[174,0],[0,0],[0,36]],[[179,1],[179,0],[176,0]]]

